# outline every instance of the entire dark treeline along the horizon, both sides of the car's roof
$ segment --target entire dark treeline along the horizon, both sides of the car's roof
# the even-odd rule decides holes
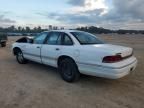
[[[47,31],[47,30],[58,30],[58,29],[64,29],[64,27],[57,27],[57,26],[52,26],[49,25],[47,29],[42,29],[40,26],[30,28],[30,27],[15,27],[15,26],[10,26],[7,28],[2,28],[0,27],[0,32],[3,33],[40,33],[42,31]],[[81,31],[86,31],[90,33],[96,33],[96,34],[108,34],[108,33],[118,33],[118,34],[144,34],[144,30],[110,30],[110,29],[105,29],[102,27],[95,27],[95,26],[90,26],[90,27],[79,27],[76,28],[77,30]]]

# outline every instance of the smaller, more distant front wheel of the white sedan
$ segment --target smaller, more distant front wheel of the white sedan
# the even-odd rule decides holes
[[[21,50],[18,50],[16,53],[16,60],[19,64],[26,64],[28,60],[23,57],[23,53]]]

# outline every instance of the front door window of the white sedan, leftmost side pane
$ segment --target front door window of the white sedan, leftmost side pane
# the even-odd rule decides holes
[[[42,33],[34,39],[34,44],[43,44],[48,33]]]

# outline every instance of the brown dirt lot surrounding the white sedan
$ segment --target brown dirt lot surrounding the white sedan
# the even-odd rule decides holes
[[[17,37],[9,37],[0,47],[0,108],[144,108],[144,35],[99,37],[134,48],[134,73],[119,80],[83,75],[69,84],[52,67],[18,64],[10,50]]]

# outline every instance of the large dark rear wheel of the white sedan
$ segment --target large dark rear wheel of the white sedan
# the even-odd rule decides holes
[[[62,79],[67,82],[77,81],[80,77],[76,63],[69,58],[60,62],[59,71]]]

